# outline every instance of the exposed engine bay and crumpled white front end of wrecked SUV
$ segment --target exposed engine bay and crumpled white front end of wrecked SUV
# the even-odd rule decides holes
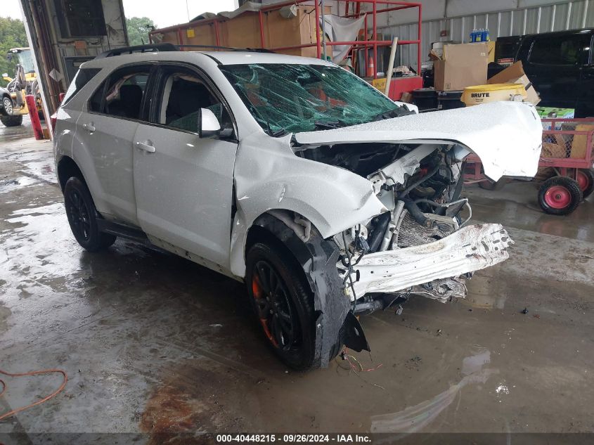
[[[342,167],[373,184],[387,209],[337,233],[337,264],[354,311],[374,311],[423,295],[465,297],[465,279],[508,258],[499,224],[465,226],[463,160],[455,143],[353,143],[308,147],[297,155]],[[301,147],[304,148],[304,147]]]

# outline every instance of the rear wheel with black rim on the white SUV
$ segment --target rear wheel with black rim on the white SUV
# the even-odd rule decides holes
[[[79,245],[85,250],[97,252],[115,242],[115,236],[99,231],[97,210],[89,188],[76,176],[72,176],[66,181],[64,205],[70,230]]]

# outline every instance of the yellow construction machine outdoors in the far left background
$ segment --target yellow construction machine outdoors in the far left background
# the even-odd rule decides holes
[[[39,79],[33,65],[33,53],[30,48],[13,48],[9,49],[6,55],[8,60],[15,60],[17,62],[15,75],[8,76],[8,73],[2,74],[4,80],[8,82],[6,91],[2,93],[2,112],[0,113],[0,121],[6,127],[15,127],[22,124],[22,115],[29,112],[25,95],[32,94],[37,104],[37,112],[39,118],[43,119],[43,112],[41,110],[41,91],[39,91]],[[4,89],[2,89],[4,90]],[[10,102],[8,101],[10,98]]]

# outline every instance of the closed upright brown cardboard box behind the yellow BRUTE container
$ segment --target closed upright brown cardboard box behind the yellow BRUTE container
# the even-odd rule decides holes
[[[434,60],[437,91],[460,91],[486,83],[489,47],[486,43],[444,45],[444,55]]]

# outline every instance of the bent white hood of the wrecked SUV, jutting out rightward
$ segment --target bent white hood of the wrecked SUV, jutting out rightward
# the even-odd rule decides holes
[[[543,127],[534,105],[493,102],[427,112],[325,131],[295,134],[297,143],[450,141],[480,157],[486,176],[532,177],[538,169]],[[462,158],[467,153],[460,153]]]

